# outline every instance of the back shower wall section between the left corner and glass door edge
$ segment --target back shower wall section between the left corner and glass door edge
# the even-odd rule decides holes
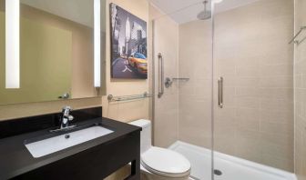
[[[211,147],[211,22],[179,25],[179,140]]]

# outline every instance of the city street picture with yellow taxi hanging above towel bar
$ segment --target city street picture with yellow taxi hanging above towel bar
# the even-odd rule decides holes
[[[112,78],[148,78],[147,22],[110,4]]]

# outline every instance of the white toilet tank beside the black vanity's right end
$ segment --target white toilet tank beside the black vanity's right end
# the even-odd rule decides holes
[[[129,123],[142,127],[140,133],[140,154],[146,152],[151,147],[151,121],[147,119],[139,119]]]

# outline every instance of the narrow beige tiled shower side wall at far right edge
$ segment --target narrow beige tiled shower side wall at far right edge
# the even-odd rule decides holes
[[[295,1],[296,32],[306,25],[306,1]],[[306,34],[302,33],[301,40]],[[295,45],[295,173],[306,180],[306,42]]]

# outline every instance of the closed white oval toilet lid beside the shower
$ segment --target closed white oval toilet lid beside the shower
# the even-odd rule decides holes
[[[168,177],[181,177],[190,173],[190,163],[186,157],[160,147],[151,147],[143,153],[141,165],[151,173]]]

